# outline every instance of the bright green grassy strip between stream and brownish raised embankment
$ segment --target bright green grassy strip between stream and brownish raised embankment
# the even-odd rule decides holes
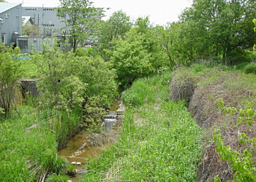
[[[200,127],[184,102],[169,101],[170,76],[138,79],[123,92],[127,110],[121,136],[89,162],[82,181],[195,181]]]

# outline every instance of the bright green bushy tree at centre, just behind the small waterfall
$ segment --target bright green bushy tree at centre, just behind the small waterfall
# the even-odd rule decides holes
[[[151,54],[148,54],[144,38],[138,28],[132,28],[124,39],[113,41],[110,62],[116,68],[117,80],[121,88],[127,88],[140,76],[154,71]]]

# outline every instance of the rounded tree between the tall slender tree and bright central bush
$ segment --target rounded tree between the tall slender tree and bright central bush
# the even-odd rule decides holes
[[[111,41],[117,38],[123,38],[124,34],[132,28],[130,17],[125,12],[114,12],[107,21],[102,21],[99,26],[97,52],[105,60],[109,58],[104,50],[111,48]]]

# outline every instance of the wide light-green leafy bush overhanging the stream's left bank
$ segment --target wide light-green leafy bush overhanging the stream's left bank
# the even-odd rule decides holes
[[[78,57],[61,48],[44,47],[32,55],[40,71],[42,103],[60,108],[83,108],[83,102],[97,96],[98,106],[108,106],[116,96],[115,71],[101,58]]]

